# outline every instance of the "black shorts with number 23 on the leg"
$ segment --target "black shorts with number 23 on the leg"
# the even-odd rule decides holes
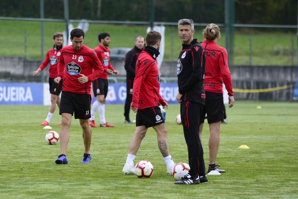
[[[91,95],[62,91],[59,114],[75,112],[75,119],[89,119]]]

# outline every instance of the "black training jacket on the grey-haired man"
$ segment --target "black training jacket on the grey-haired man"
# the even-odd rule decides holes
[[[204,91],[205,52],[197,39],[182,44],[177,60],[179,93],[184,101],[205,104]]]

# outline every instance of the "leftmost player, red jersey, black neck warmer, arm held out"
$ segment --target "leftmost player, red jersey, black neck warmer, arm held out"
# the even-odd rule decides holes
[[[44,70],[47,67],[47,65],[50,63],[49,86],[50,86],[50,93],[51,93],[51,106],[48,112],[48,116],[46,117],[44,122],[41,123],[42,126],[49,125],[51,118],[55,112],[56,104],[58,105],[58,107],[60,106],[59,95],[62,89],[62,80],[60,81],[59,84],[56,84],[54,82],[54,79],[58,76],[57,66],[58,66],[58,60],[60,58],[61,50],[62,50],[63,34],[56,32],[53,36],[53,42],[54,42],[54,47],[51,48],[48,51],[48,53],[46,53],[46,58],[44,59],[44,62],[39,66],[37,70],[33,72],[33,76],[36,76],[39,72]],[[61,123],[59,123],[58,125],[61,125]]]

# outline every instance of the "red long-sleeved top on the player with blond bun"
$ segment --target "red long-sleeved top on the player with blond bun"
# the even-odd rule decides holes
[[[205,91],[223,93],[223,81],[229,96],[233,96],[231,72],[228,66],[228,53],[215,41],[205,40],[202,44],[206,51],[204,78]]]

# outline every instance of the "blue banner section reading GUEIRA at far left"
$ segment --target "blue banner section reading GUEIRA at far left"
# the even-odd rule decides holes
[[[0,83],[0,105],[43,105],[43,84]]]

